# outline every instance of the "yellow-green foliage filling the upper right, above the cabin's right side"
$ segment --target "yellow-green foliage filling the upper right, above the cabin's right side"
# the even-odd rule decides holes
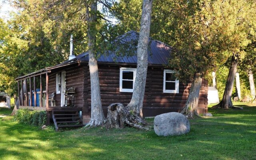
[[[180,80],[192,79],[195,72],[207,76],[232,53],[240,59],[246,56],[245,49],[255,39],[255,7],[251,0],[154,0],[151,36],[175,48],[170,67]],[[141,4],[121,0],[119,8],[118,25],[137,30],[134,21]]]

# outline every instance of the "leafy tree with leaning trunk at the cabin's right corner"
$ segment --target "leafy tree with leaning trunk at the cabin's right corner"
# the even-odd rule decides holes
[[[221,63],[223,57],[227,57],[220,47],[221,34],[214,5],[210,0],[195,0],[174,2],[172,7],[168,32],[174,38],[174,42],[170,42],[175,49],[169,66],[176,70],[180,80],[192,82],[185,107],[181,111],[190,118],[198,115],[202,76],[212,71],[214,64]]]

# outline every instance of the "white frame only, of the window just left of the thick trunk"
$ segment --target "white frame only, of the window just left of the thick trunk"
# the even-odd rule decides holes
[[[120,68],[119,92],[133,92],[133,89],[126,89],[126,88],[123,88],[122,86],[123,80],[126,80],[126,79],[123,79],[123,71],[133,72],[133,80],[129,80],[129,81],[133,81],[132,88],[134,89],[134,82],[135,82],[137,68],[124,68],[124,67]]]

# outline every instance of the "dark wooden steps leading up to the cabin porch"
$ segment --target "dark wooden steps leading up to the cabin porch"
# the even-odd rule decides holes
[[[56,131],[61,127],[82,127],[83,122],[78,110],[52,110]]]

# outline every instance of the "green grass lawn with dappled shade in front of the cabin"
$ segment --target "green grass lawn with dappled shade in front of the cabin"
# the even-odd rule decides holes
[[[0,159],[256,160],[256,106],[236,105],[244,110],[209,108],[213,117],[190,120],[191,132],[173,137],[134,128],[38,130],[7,116],[0,118]]]

